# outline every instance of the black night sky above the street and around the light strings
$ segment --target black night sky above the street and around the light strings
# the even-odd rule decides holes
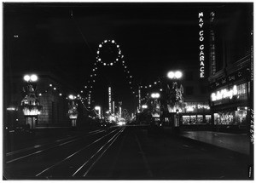
[[[198,12],[213,7],[218,6],[210,3],[4,3],[4,55],[8,48],[4,63],[9,71],[55,71],[79,91],[90,78],[98,44],[114,39],[125,56],[134,83],[147,83],[165,76],[181,60],[198,64]],[[119,64],[99,68],[98,77],[96,103],[106,100],[107,91],[104,97],[102,90],[107,89],[106,83],[112,83],[116,86],[117,100],[126,101],[131,108],[131,91]]]

